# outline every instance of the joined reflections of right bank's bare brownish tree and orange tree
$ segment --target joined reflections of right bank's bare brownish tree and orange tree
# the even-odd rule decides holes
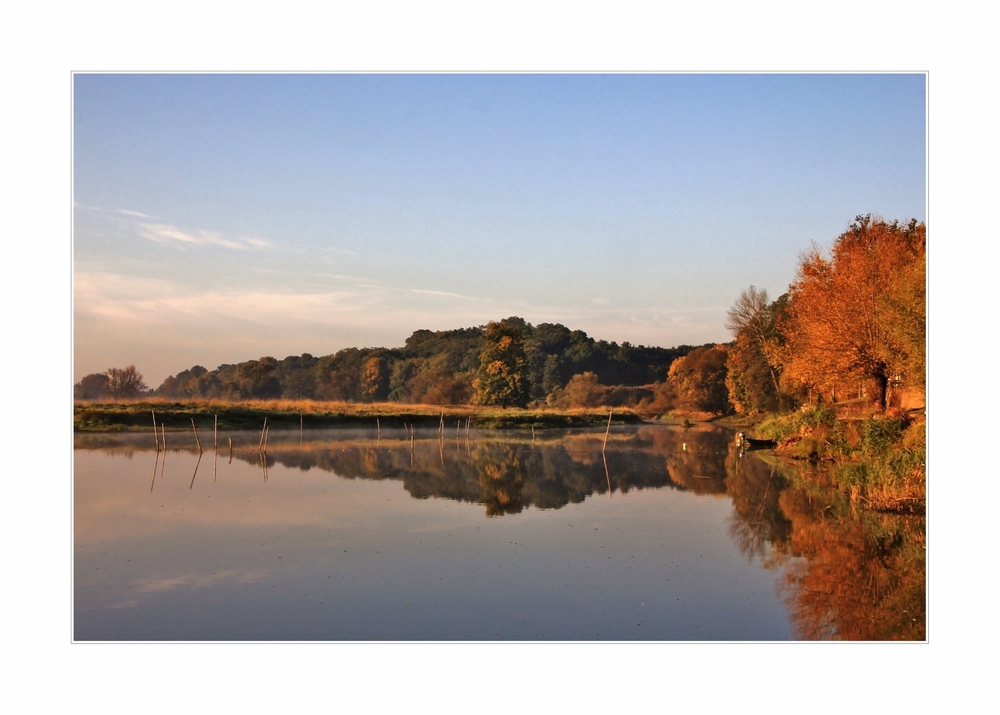
[[[778,576],[797,638],[924,640],[925,519],[855,512],[822,470],[727,460],[741,552]]]

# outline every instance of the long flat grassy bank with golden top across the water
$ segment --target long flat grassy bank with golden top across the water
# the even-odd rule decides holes
[[[473,427],[595,427],[608,422],[608,412],[599,409],[515,409],[478,407],[402,405],[395,402],[317,402],[312,400],[142,400],[136,402],[77,402],[73,406],[73,428],[78,432],[152,431],[153,412],[157,425],[168,431],[191,429],[194,419],[199,428],[211,429],[218,416],[219,429],[259,429],[267,424],[275,429],[371,426],[437,427],[442,413],[447,428],[470,420]],[[613,424],[641,422],[626,409],[616,409]]]

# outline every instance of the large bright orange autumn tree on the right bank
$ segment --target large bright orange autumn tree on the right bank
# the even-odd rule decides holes
[[[887,223],[870,214],[858,216],[837,238],[829,258],[815,246],[804,254],[789,291],[786,372],[821,389],[845,378],[870,379],[884,411],[890,380],[907,364],[900,333],[920,333],[915,318],[894,309],[891,300],[906,294],[899,281],[925,256],[923,223]],[[909,350],[912,357],[914,346]]]

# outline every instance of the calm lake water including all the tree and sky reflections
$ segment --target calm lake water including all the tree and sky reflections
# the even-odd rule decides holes
[[[77,435],[74,637],[925,637],[922,519],[852,517],[728,431],[603,438]]]

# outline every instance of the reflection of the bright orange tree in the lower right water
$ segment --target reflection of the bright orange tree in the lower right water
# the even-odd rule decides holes
[[[797,637],[923,640],[926,568],[923,517],[852,515],[836,495],[782,492],[791,521],[780,588]]]

